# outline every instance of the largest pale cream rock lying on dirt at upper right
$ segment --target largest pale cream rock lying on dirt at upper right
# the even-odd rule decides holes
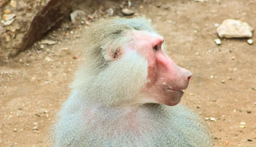
[[[246,22],[240,20],[224,20],[217,28],[218,35],[223,38],[252,37],[253,28]]]

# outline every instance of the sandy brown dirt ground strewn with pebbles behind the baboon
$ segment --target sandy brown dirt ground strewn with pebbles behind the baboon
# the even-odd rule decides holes
[[[227,18],[241,19],[256,29],[256,0],[131,1],[131,9],[157,25],[169,56],[194,73],[181,103],[202,119],[215,118],[205,121],[216,146],[256,147],[255,44],[249,45],[247,39],[221,39],[220,46],[214,42],[215,23]],[[80,60],[74,58],[74,46],[81,28],[67,26],[70,20],[44,38],[57,44],[38,50],[39,41],[0,66],[0,147],[48,147],[47,130],[67,99]],[[252,39],[256,41],[255,35]],[[244,128],[240,122],[246,123]]]

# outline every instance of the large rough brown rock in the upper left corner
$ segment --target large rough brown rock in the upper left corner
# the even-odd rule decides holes
[[[53,26],[60,24],[64,17],[68,17],[73,4],[77,3],[77,1],[78,0],[47,0],[42,1],[40,7],[24,7],[19,2],[16,9],[19,9],[19,7],[22,9],[26,8],[29,9],[29,13],[13,10],[16,17],[12,19],[8,17],[10,14],[5,14],[4,17],[6,21],[2,20],[0,26],[8,26],[9,28],[1,27],[3,29],[0,30],[0,58],[14,57],[19,52],[32,46],[35,41],[44,37]],[[83,2],[84,1],[87,0],[83,0]],[[9,5],[7,5],[7,2],[10,2]],[[0,7],[3,7],[3,9],[8,9],[10,6],[16,7],[15,3],[17,3],[17,0],[0,0]],[[3,34],[10,32],[10,29],[13,28],[18,28],[14,29],[15,32],[12,32],[15,37],[11,37],[10,40],[7,41],[6,36]]]

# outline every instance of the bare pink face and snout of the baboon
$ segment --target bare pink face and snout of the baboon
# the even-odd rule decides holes
[[[183,89],[189,85],[193,75],[177,64],[162,51],[163,37],[146,31],[132,31],[127,34],[132,37],[125,52],[136,50],[148,61],[148,79],[143,102],[154,102],[175,106],[180,102]]]

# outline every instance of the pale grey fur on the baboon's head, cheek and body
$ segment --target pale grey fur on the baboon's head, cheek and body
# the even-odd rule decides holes
[[[201,118],[180,104],[121,106],[140,96],[148,75],[136,52],[116,61],[105,56],[130,40],[124,34],[131,30],[156,32],[145,17],[104,19],[85,29],[83,64],[52,126],[52,147],[212,147]]]

